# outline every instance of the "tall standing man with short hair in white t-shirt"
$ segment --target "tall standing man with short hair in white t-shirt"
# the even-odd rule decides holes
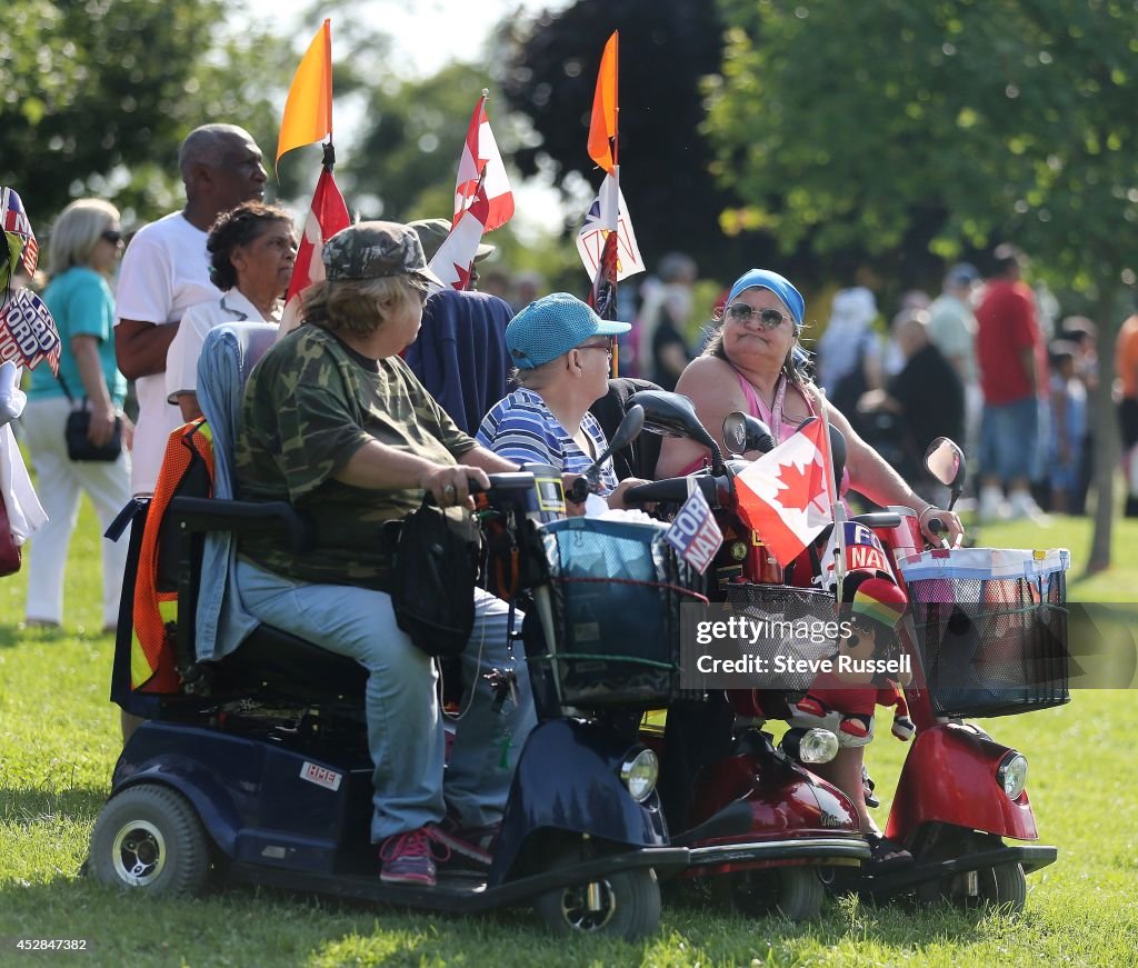
[[[185,208],[143,226],[123,256],[116,292],[118,369],[135,381],[139,419],[131,490],[154,491],[170,432],[182,415],[167,400],[166,353],[185,311],[221,297],[209,281],[207,231],[223,212],[264,197],[262,154],[245,129],[207,124],[179,151]]]

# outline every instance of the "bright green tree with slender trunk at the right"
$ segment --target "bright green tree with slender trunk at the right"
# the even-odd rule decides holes
[[[1111,554],[1110,397],[1138,266],[1138,10],[1119,0],[720,0],[707,132],[783,251],[884,254],[915,225],[943,258],[1008,240],[1092,305],[1099,496],[1088,566]]]

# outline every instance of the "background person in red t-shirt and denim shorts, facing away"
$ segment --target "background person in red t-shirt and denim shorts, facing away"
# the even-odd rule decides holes
[[[996,271],[976,308],[976,365],[984,397],[980,518],[1042,522],[1046,515],[1031,496],[1031,475],[1039,448],[1039,399],[1048,384],[1047,347],[1034,295],[1021,279],[1023,254],[1003,245],[993,258]]]

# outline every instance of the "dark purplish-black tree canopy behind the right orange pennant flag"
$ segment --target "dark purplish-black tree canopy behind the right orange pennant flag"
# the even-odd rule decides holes
[[[711,3],[578,0],[518,25],[503,88],[539,140],[521,147],[514,163],[530,175],[549,158],[559,183],[576,174],[599,187],[586,141],[601,52],[613,30],[620,31],[620,188],[649,267],[677,249],[709,275],[744,268],[769,242],[744,245],[719,227],[733,197],[711,180],[700,134],[700,81],[719,71],[721,47]]]

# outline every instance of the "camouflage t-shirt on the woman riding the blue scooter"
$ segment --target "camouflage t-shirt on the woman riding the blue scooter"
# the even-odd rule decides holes
[[[249,374],[237,438],[244,500],[288,500],[311,518],[315,547],[297,556],[280,538],[246,536],[240,554],[300,581],[388,590],[393,546],[385,521],[405,518],[421,489],[352,487],[336,474],[369,440],[439,464],[475,446],[397,356],[361,356],[304,325]]]

